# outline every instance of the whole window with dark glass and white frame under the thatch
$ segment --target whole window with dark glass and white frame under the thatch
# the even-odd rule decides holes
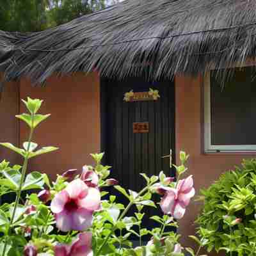
[[[205,152],[256,150],[255,67],[234,68],[221,84],[214,70],[204,83]]]

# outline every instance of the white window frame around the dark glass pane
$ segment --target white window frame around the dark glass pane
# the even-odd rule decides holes
[[[251,66],[251,65],[244,65]],[[212,145],[211,143],[211,73],[204,76],[204,152],[256,152],[256,145]]]

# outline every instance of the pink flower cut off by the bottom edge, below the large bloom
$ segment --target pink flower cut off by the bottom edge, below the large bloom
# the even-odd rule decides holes
[[[92,233],[84,232],[70,245],[58,244],[54,247],[55,256],[93,256]]]

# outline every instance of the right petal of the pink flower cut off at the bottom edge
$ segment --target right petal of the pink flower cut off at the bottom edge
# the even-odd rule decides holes
[[[72,244],[70,255],[92,256],[92,233],[84,232],[79,234],[78,239]]]

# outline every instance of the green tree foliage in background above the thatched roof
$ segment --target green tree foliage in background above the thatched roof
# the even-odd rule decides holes
[[[42,31],[105,8],[111,0],[1,0],[0,29]]]

